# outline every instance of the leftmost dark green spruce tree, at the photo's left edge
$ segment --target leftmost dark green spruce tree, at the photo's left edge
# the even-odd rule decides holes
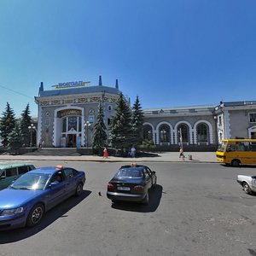
[[[6,104],[5,111],[0,118],[0,137],[2,139],[3,147],[7,147],[9,143],[9,134],[15,128],[15,112],[9,106],[9,102]]]

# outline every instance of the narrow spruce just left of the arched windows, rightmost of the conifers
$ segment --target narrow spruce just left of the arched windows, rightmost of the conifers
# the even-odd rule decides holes
[[[135,144],[138,145],[143,141],[143,110],[138,96],[132,107],[131,124]]]

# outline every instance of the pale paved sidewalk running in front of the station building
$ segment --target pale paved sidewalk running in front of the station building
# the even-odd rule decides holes
[[[189,160],[189,154],[192,160]],[[189,163],[217,163],[215,152],[185,152],[185,158],[179,158],[178,152],[161,152],[155,157],[116,157],[109,156],[108,159],[97,155],[80,156],[50,156],[50,155],[0,155],[0,160],[66,160],[66,161],[96,161],[96,162],[189,162]]]

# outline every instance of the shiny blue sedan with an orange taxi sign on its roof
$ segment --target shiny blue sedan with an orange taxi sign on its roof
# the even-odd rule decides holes
[[[0,230],[32,227],[44,213],[71,195],[81,195],[85,173],[70,167],[42,167],[26,172],[0,191]]]

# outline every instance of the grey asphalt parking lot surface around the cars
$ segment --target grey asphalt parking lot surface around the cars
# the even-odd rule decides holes
[[[47,212],[37,227],[0,232],[0,255],[256,255],[256,196],[236,183],[255,166],[148,163],[158,185],[143,206],[106,197],[124,163],[32,163],[85,171],[84,193]]]

